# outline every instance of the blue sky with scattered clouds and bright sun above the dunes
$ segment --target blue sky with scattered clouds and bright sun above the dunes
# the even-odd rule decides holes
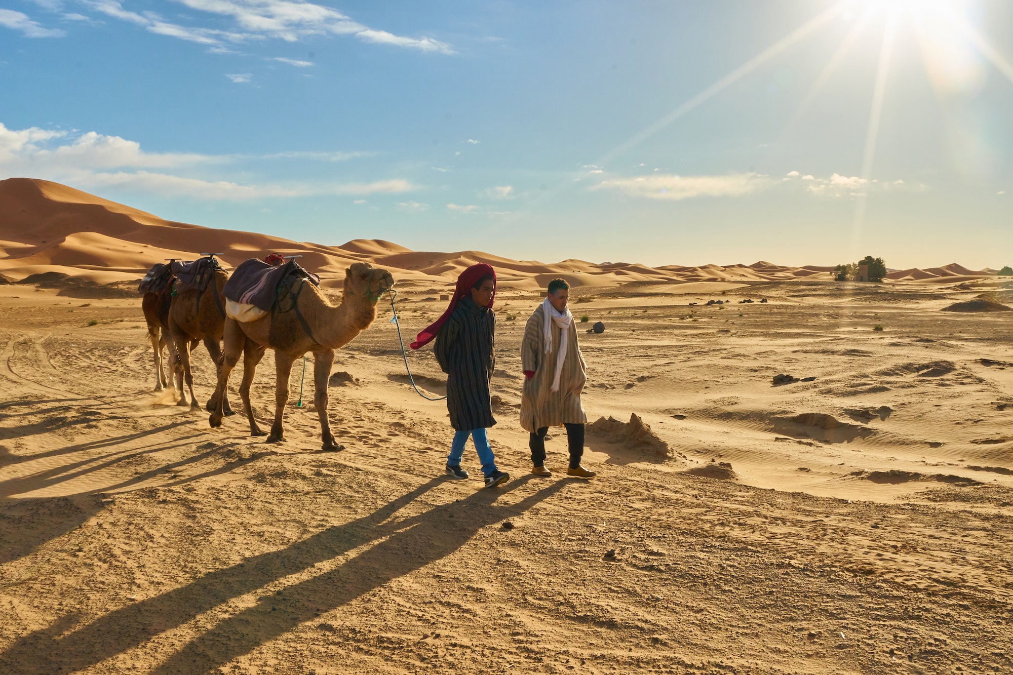
[[[339,244],[1013,265],[1002,0],[0,0],[0,176]]]

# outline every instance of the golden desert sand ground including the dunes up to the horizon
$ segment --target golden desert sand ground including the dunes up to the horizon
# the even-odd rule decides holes
[[[323,246],[23,178],[0,181],[0,672],[1013,672],[1013,315],[942,311],[1009,305],[990,270]],[[406,338],[462,267],[496,266],[514,479],[483,490],[470,446],[473,478],[445,479],[446,407],[406,384],[386,300],[333,368],[341,452],[298,368],[283,444],[154,393],[132,289],[202,250],[304,254],[335,299],[349,262],[385,267]],[[606,325],[580,334],[592,481],[561,477],[561,430],[556,475],[527,475],[520,340],[554,276]],[[409,359],[441,394],[432,351]],[[261,421],[272,387],[268,352]]]

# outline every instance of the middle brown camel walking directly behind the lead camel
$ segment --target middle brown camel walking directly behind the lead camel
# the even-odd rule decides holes
[[[169,335],[172,340],[175,357],[175,372],[179,380],[179,400],[177,405],[186,405],[186,391],[183,389],[183,381],[189,389],[191,409],[199,407],[197,395],[193,393],[193,376],[190,374],[189,350],[187,343],[202,341],[208,348],[208,354],[216,368],[222,361],[222,332],[225,326],[225,296],[222,289],[225,282],[229,280],[229,275],[221,268],[215,268],[205,272],[201,279],[202,292],[197,290],[183,291],[172,298],[169,305]],[[198,300],[200,295],[200,306]],[[232,415],[229,406],[228,392],[222,395],[226,415]],[[213,410],[217,406],[218,399],[212,397],[208,401],[207,409]]]

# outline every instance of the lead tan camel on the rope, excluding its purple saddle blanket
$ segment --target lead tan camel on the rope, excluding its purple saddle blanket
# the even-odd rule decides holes
[[[341,450],[330,433],[327,418],[327,379],[334,363],[334,350],[350,343],[376,318],[376,305],[380,296],[394,286],[394,278],[386,270],[375,269],[368,262],[355,262],[344,274],[344,292],[341,302],[332,305],[316,286],[306,279],[293,284],[290,297],[295,297],[295,311],[274,311],[255,321],[241,323],[229,318],[225,321],[224,359],[218,372],[218,386],[212,400],[217,407],[211,414],[212,427],[222,425],[224,393],[228,389],[229,375],[239,355],[243,354],[243,381],[239,395],[250,425],[250,436],[264,436],[253,419],[250,406],[250,385],[256,366],[264,351],[275,351],[275,423],[270,427],[267,443],[285,440],[282,420],[289,401],[289,374],[296,359],[307,352],[313,353],[313,400],[320,418],[320,435],[324,450]],[[277,306],[276,306],[277,309]],[[303,321],[309,327],[309,334]]]

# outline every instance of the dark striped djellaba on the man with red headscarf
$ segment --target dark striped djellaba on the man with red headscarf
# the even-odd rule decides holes
[[[457,431],[492,427],[489,378],[495,367],[496,316],[465,296],[437,333],[434,353],[447,373],[447,409]]]

